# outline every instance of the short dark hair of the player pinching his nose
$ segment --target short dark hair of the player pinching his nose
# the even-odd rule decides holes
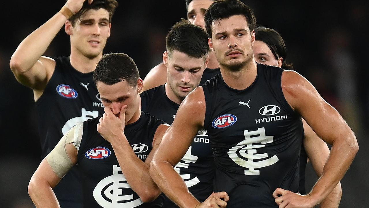
[[[127,54],[110,53],[100,59],[93,73],[93,81],[114,85],[123,80],[130,86],[137,86],[139,72],[133,59]]]

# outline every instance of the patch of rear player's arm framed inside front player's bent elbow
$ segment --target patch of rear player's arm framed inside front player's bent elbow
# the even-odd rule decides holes
[[[311,127],[303,120],[304,125],[304,148],[307,156],[318,177],[321,176],[323,168],[330,150],[323,140],[311,129]]]

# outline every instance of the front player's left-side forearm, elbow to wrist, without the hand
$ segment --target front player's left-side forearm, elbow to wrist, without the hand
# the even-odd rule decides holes
[[[150,174],[163,193],[179,207],[195,208],[200,203],[190,194],[183,179],[170,163],[153,161]]]

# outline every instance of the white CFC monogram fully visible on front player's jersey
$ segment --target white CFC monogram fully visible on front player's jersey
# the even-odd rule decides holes
[[[244,135],[245,140],[232,147],[228,151],[228,156],[239,166],[248,168],[248,170],[245,170],[245,175],[259,175],[260,170],[257,169],[270,166],[279,160],[276,155],[268,158],[268,153],[256,153],[256,150],[265,147],[266,143],[273,142],[273,136],[265,135],[264,127],[251,132],[245,130]]]

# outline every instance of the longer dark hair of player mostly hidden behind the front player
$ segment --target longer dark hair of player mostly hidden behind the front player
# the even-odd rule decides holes
[[[267,27],[255,28],[255,40],[263,41],[268,45],[270,51],[272,51],[276,59],[282,57],[282,68],[292,70],[293,65],[286,63],[287,48],[284,44],[282,36],[274,29]]]

